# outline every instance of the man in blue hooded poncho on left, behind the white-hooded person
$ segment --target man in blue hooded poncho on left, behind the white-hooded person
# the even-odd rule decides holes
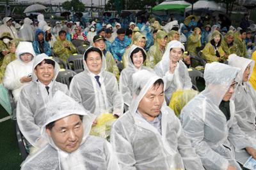
[[[45,53],[48,56],[52,55],[52,50],[50,47],[50,44],[48,41],[45,41],[44,35],[45,32],[42,31],[41,29],[36,29],[35,32],[35,41],[33,41],[33,48],[35,50],[36,55],[40,53]]]

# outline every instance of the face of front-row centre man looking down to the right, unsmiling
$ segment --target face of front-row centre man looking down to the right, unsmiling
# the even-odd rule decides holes
[[[163,84],[159,86],[152,86],[145,96],[141,99],[138,106],[138,111],[140,111],[143,117],[147,120],[154,120],[160,113],[161,106],[164,102],[164,86]]]

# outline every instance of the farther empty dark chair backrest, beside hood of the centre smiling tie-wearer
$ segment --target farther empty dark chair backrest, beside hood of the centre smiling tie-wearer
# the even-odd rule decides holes
[[[68,61],[68,65],[70,66],[70,69],[76,71],[76,73],[80,73],[84,71],[83,55],[81,54],[70,55],[67,61]]]

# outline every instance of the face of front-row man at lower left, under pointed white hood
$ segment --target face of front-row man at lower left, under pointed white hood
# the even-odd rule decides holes
[[[58,148],[72,153],[79,148],[84,131],[79,115],[69,115],[56,120],[52,129],[46,129],[46,132]]]

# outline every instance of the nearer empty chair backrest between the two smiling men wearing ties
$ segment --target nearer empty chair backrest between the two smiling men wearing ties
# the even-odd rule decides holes
[[[69,88],[70,82],[74,75],[76,75],[75,71],[72,71],[70,69],[61,69],[58,73],[56,81],[67,85]]]

